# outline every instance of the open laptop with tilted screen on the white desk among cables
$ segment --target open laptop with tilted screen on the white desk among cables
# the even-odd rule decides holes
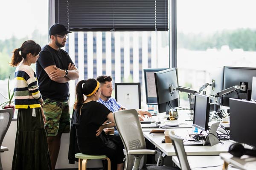
[[[209,130],[209,133],[204,140],[188,141],[185,139],[183,144],[184,145],[201,145],[201,146],[205,146],[207,144],[210,144],[211,146],[213,146],[215,144],[218,144],[219,139],[216,136],[217,136],[217,129],[218,129],[219,124],[220,124],[220,122],[215,122],[212,124],[212,126],[210,127],[210,130]]]

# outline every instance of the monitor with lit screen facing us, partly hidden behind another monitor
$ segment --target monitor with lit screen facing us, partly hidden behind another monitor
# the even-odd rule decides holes
[[[167,68],[145,68],[144,79],[145,79],[145,91],[147,105],[157,105],[157,90],[154,79],[154,73]]]

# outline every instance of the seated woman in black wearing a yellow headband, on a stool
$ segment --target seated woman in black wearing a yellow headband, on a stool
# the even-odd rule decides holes
[[[111,170],[122,170],[123,148],[102,135],[102,130],[114,127],[115,122],[113,113],[96,102],[100,93],[99,82],[96,79],[81,80],[76,85],[77,101],[74,108],[78,147],[84,154],[108,156],[111,160]],[[103,124],[106,120],[111,122]]]

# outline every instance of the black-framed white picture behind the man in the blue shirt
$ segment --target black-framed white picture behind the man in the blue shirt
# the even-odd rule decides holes
[[[141,109],[140,82],[115,83],[116,101],[128,109]]]

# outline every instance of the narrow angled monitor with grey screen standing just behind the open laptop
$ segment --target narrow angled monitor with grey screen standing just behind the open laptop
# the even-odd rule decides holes
[[[208,130],[210,104],[209,96],[195,94],[193,126]]]

